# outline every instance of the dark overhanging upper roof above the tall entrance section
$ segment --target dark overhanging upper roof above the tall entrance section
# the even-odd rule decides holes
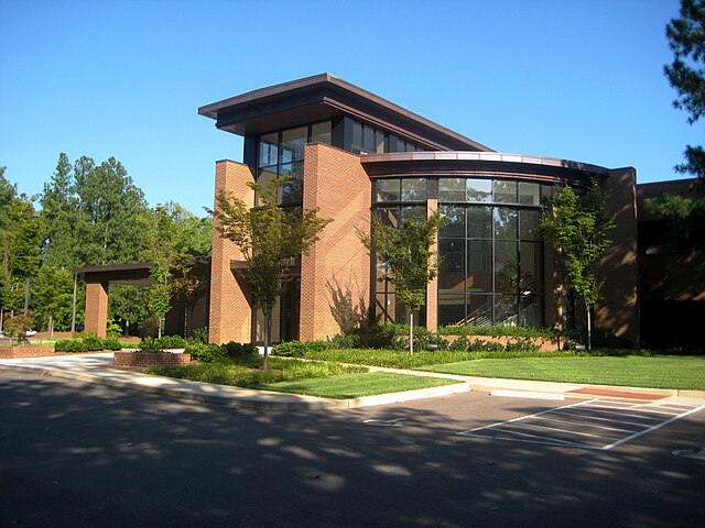
[[[278,116],[301,119],[310,113],[314,119],[325,119],[340,111],[400,135],[425,140],[422,143],[442,150],[491,152],[469,138],[330,74],[260,88],[198,109],[200,116],[217,120],[218,128],[240,135],[267,132],[263,127],[273,123]]]

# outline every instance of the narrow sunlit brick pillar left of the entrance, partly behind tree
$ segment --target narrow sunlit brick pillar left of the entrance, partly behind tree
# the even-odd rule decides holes
[[[216,162],[216,194],[229,191],[248,205],[254,205],[254,191],[247,186],[254,179],[250,167],[224,160]],[[214,205],[214,209],[217,204]],[[252,309],[250,295],[242,276],[236,276],[231,261],[242,260],[242,254],[229,240],[213,230],[213,260],[210,267],[210,311],[208,340],[212,343],[251,341]]]

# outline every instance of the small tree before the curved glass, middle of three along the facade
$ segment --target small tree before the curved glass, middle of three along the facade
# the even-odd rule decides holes
[[[435,212],[429,218],[411,217],[390,226],[372,217],[371,237],[359,233],[372,258],[384,262],[391,272],[386,279],[397,290],[397,300],[409,308],[409,352],[414,353],[414,311],[426,300],[426,285],[436,276],[431,246],[442,223]]]

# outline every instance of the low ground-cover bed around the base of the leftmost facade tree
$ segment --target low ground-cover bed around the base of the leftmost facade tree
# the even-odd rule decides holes
[[[278,382],[367,372],[367,369],[364,367],[280,358],[270,358],[268,371],[257,369],[259,365],[259,358],[254,358],[254,360],[245,363],[223,360],[178,366],[151,366],[144,372],[158,376],[249,388]]]

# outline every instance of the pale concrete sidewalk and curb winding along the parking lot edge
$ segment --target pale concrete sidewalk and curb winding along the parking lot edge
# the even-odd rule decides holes
[[[654,389],[641,387],[616,387],[573,383],[532,382],[460,376],[421,371],[370,367],[370,372],[392,372],[413,376],[430,376],[456,380],[460,383],[442,387],[406,391],[403,393],[366,396],[354,399],[329,399],[296,394],[274,393],[250,388],[216,385],[209,383],[152,376],[139,372],[118,370],[112,366],[112,353],[67,354],[47,358],[0,360],[0,369],[66,377],[117,387],[129,387],[197,402],[228,405],[232,407],[257,407],[269,409],[327,409],[387,405],[412,399],[432,398],[469,391],[488,392],[496,396],[564,399],[617,398],[631,400],[687,399],[705,403],[704,391]]]

